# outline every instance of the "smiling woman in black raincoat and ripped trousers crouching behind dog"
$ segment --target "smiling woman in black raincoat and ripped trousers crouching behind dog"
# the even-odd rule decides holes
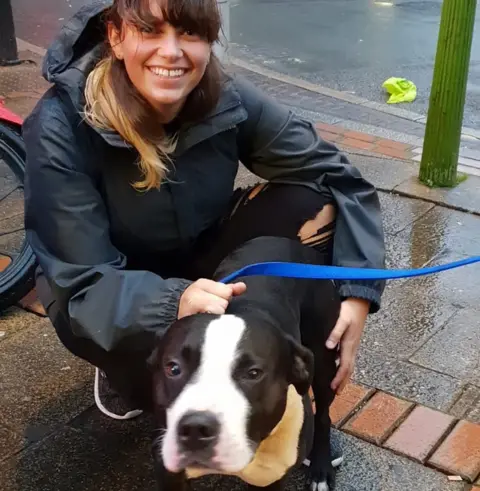
[[[319,264],[383,266],[375,188],[311,122],[221,66],[220,27],[216,0],[89,2],[49,49],[51,88],[24,124],[37,291],[62,343],[97,367],[95,401],[116,419],[152,409],[155,334],[222,316],[245,293],[213,279],[245,242],[282,237]],[[264,184],[235,189],[239,162]],[[383,283],[336,287],[332,390]]]

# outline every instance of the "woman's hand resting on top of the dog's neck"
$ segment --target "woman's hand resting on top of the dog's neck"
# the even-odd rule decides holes
[[[210,314],[222,315],[227,310],[232,297],[245,292],[245,283],[225,285],[217,281],[201,278],[185,289],[180,297],[178,319],[187,315]]]

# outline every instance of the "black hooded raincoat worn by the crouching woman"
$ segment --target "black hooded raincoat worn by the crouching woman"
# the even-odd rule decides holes
[[[85,80],[98,61],[110,2],[84,7],[44,61],[53,87],[24,124],[27,238],[72,331],[106,350],[141,331],[165,329],[190,284],[169,257],[188,260],[198,236],[225,213],[240,160],[256,175],[310,186],[338,206],[334,264],[384,265],[377,193],[313,125],[240,77],[225,83],[203,121],[180,130],[169,179],[138,192],[134,149],[82,120]],[[339,283],[343,297],[377,310],[383,283]]]

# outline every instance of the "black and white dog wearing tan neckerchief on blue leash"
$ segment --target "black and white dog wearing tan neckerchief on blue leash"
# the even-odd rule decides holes
[[[289,239],[261,237],[230,254],[214,279],[262,261],[315,264],[316,254]],[[188,479],[227,474],[251,490],[281,491],[290,470],[308,457],[310,489],[328,491],[336,353],[325,341],[340,310],[336,288],[323,280],[240,280],[247,291],[225,315],[176,321],[151,356],[160,490],[182,491]]]

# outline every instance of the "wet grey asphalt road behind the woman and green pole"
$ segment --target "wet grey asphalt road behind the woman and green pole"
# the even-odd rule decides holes
[[[47,47],[92,0],[12,0],[17,36]],[[441,0],[231,0],[232,52],[326,87],[384,102],[390,76],[413,80],[425,114]],[[480,11],[477,15],[480,20]],[[465,125],[480,128],[480,21],[474,37]]]

